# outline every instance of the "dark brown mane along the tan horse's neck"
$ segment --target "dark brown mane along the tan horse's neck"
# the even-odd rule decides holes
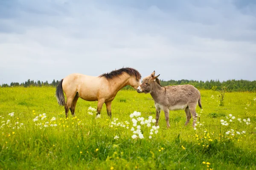
[[[119,77],[120,75],[127,73],[130,76],[134,76],[136,77],[137,80],[141,79],[141,75],[139,73],[139,71],[135,70],[134,68],[120,68],[119,70],[114,70],[111,71],[110,73],[104,73],[102,75],[100,75],[99,77],[105,77],[106,79],[113,79],[115,77]]]

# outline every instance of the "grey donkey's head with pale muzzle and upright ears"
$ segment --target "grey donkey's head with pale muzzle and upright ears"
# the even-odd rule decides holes
[[[143,78],[141,85],[137,88],[137,92],[138,93],[150,93],[152,88],[153,88],[153,83],[158,80],[157,77],[160,76],[160,74],[158,76],[154,76],[155,75],[155,71],[150,74],[149,76]]]

